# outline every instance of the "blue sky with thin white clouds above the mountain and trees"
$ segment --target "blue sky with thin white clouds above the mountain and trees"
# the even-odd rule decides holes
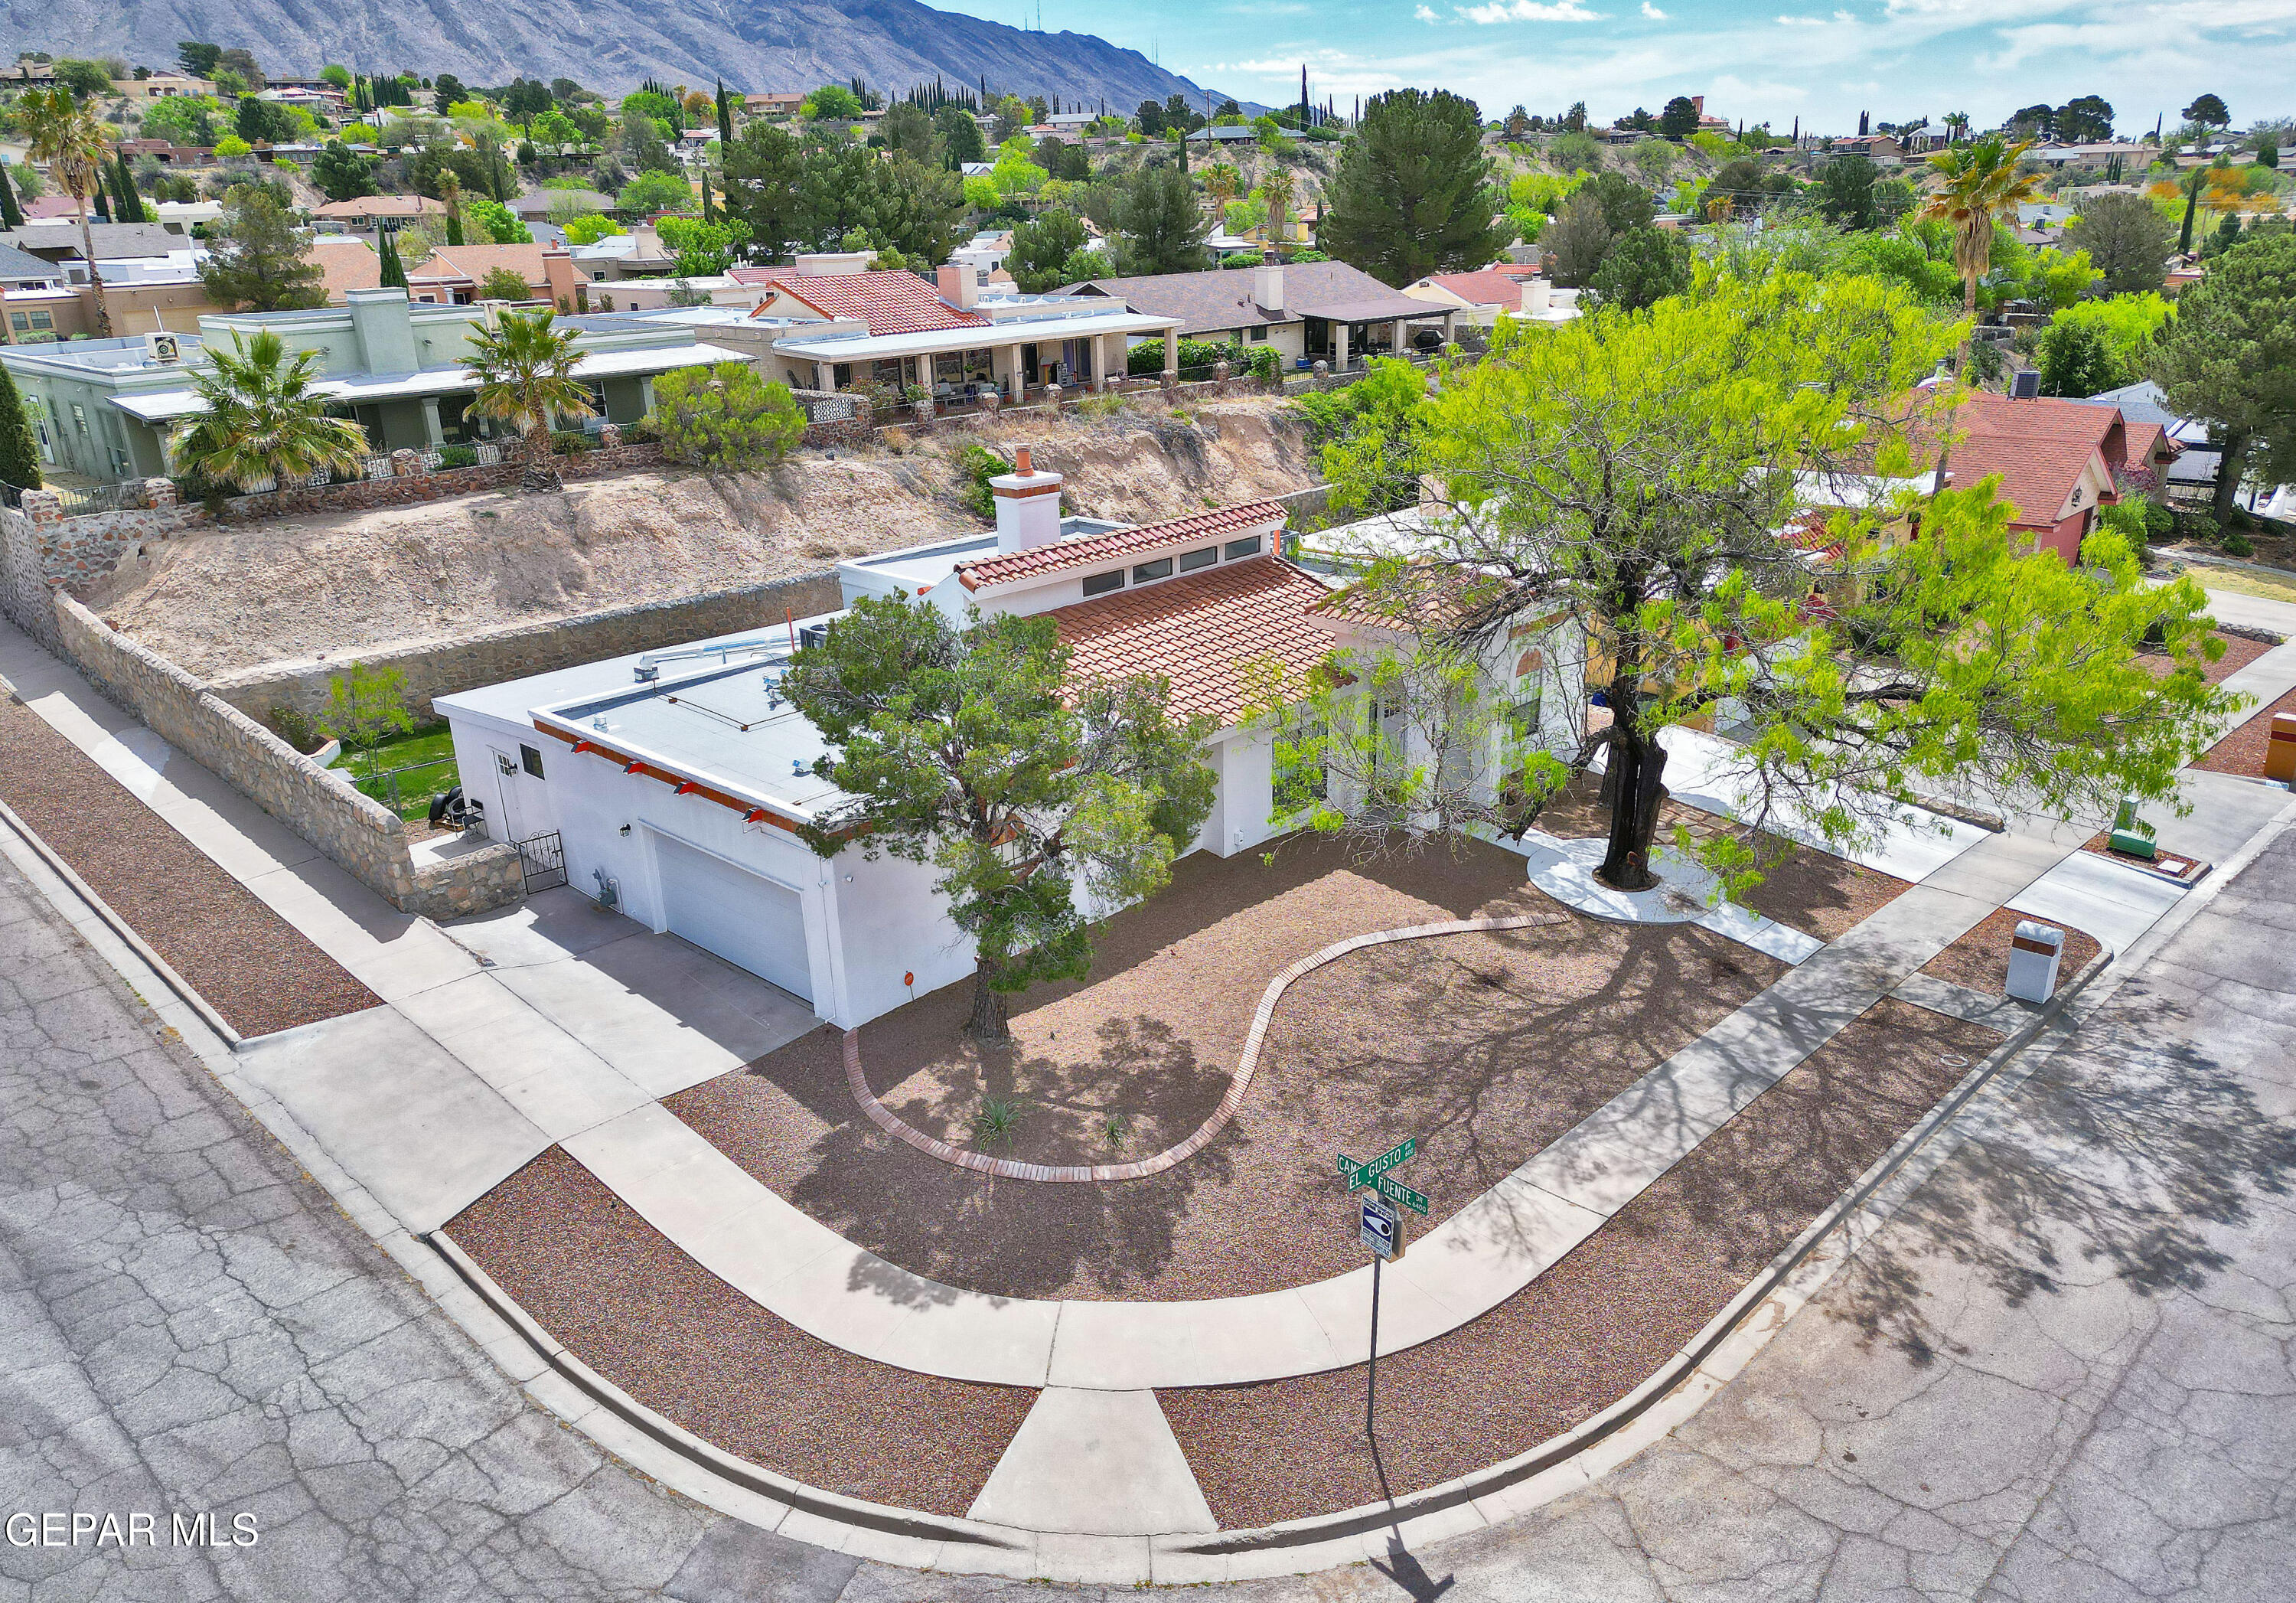
[[[930,0],[1019,25],[1024,0]],[[1026,0],[1033,7],[1035,0]],[[1995,124],[2076,94],[2122,131],[2195,94],[2236,122],[2296,115],[2296,0],[1042,0],[1047,30],[1093,32],[1208,87],[1286,101],[1398,85],[1472,94],[1486,115],[1584,99],[1609,119],[1671,94],[1786,131],[1855,131],[1965,110]]]

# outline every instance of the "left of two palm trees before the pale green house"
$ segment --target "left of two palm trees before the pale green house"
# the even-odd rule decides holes
[[[298,478],[367,457],[365,429],[328,418],[326,397],[312,388],[319,351],[289,358],[266,328],[253,340],[234,333],[230,351],[211,344],[207,358],[207,372],[191,381],[204,411],[168,439],[168,452],[200,478],[246,491],[269,480],[287,496]]]

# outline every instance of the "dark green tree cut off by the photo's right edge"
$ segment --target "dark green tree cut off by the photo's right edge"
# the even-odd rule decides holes
[[[2271,482],[2296,480],[2296,237],[2234,246],[2177,296],[2151,377],[2174,411],[2209,418],[2223,446],[2220,519],[2250,466]]]

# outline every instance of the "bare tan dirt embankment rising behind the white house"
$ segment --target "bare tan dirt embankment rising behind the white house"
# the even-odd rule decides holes
[[[866,450],[810,450],[771,473],[629,473],[563,494],[475,494],[152,542],[80,595],[200,675],[338,650],[468,636],[606,606],[824,572],[838,558],[980,528],[955,457],[1035,446],[1065,505],[1125,521],[1304,489],[1302,429],[1270,397],[1192,418],[1019,418]]]

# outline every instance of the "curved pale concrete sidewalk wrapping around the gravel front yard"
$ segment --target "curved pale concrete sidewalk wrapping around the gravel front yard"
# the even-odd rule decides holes
[[[1515,1295],[1929,958],[2043,882],[2071,850],[2032,836],[1981,838],[1676,1052],[1428,1231],[1387,1275],[1380,1348],[1430,1341]],[[1368,1268],[1290,1291],[1192,1302],[992,1298],[854,1247],[661,1107],[606,1121],[565,1148],[760,1307],[900,1369],[992,1385],[1148,1392],[1277,1380],[1366,1355]]]

